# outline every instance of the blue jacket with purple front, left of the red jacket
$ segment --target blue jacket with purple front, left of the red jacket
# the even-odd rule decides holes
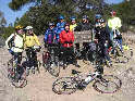
[[[57,36],[57,29],[48,28],[45,33],[45,42],[52,43],[52,42],[58,42],[58,40],[59,40],[59,37]]]

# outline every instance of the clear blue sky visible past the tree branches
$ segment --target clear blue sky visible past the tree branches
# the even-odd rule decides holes
[[[30,4],[26,4],[20,11],[15,11],[14,12],[8,5],[9,2],[11,2],[11,1],[12,0],[0,0],[0,11],[3,12],[8,25],[10,23],[14,23],[16,17],[22,17],[22,15],[26,11],[28,11],[28,8],[33,5],[32,3]],[[105,0],[105,1],[108,2],[108,3],[119,3],[119,2],[122,2],[123,0]]]

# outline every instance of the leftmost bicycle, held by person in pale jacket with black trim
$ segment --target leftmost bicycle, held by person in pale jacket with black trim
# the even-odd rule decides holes
[[[22,58],[25,61],[25,58]],[[16,88],[23,88],[27,85],[26,80],[26,70],[22,64],[19,64],[14,58],[10,59],[8,62],[8,78],[11,80],[12,85]]]

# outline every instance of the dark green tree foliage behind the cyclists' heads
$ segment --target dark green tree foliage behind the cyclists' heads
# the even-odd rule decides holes
[[[38,0],[13,0],[10,4],[11,9],[19,10],[22,5]],[[49,0],[41,0],[41,4],[32,7],[23,17],[16,18],[14,26],[16,25],[32,25],[36,35],[44,34],[48,27],[49,22],[58,22],[60,14],[65,16],[65,21],[70,22],[70,17],[75,15],[77,22],[82,21],[83,15],[88,15],[90,21],[95,20],[96,13],[101,13],[105,20],[110,17],[109,13],[111,10],[115,10],[119,17],[122,18],[124,28],[132,20],[135,20],[135,1],[123,2],[120,4],[102,5],[103,0],[54,0],[54,4],[48,3]],[[17,3],[16,3],[17,2]],[[90,3],[95,9],[87,10],[85,7]],[[76,11],[78,9],[78,11]]]

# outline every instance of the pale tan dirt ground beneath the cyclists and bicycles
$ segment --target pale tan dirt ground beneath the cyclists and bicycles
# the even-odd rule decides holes
[[[40,61],[41,52],[38,54]],[[40,74],[30,74],[27,77],[26,87],[14,88],[7,77],[7,62],[10,58],[7,49],[0,48],[0,101],[134,101],[135,99],[135,55],[126,64],[115,64],[112,68],[105,67],[105,74],[115,75],[122,80],[122,88],[111,94],[97,92],[93,88],[93,83],[84,91],[57,94],[52,91],[52,83],[57,78],[46,72],[44,67],[40,67]],[[93,70],[93,66],[86,65],[82,61],[78,61],[78,64],[81,68],[73,65],[69,65],[65,70],[61,68],[60,77],[70,76],[73,68],[83,73]]]

